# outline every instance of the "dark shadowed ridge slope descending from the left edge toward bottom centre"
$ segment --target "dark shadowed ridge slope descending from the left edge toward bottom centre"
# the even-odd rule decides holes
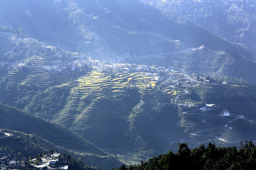
[[[92,143],[77,136],[60,124],[45,121],[39,117],[32,116],[2,104],[0,104],[0,112],[2,113],[1,126],[4,128],[7,127],[12,130],[22,131],[26,134],[35,133],[56,146],[81,153],[81,155],[83,155],[83,153],[88,153],[89,156],[85,155],[84,159],[89,159],[92,165],[97,163],[97,165],[100,165],[104,169],[109,169],[112,166],[118,166],[121,164],[115,158],[109,157]],[[47,147],[49,147],[49,145]],[[94,156],[92,154],[96,154],[98,156]],[[108,159],[111,161],[107,161]]]

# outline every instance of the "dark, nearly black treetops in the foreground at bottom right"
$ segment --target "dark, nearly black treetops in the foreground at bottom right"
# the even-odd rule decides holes
[[[168,154],[141,161],[140,165],[122,165],[111,170],[241,170],[256,169],[256,146],[252,141],[241,142],[239,147],[216,147],[209,143],[189,149],[187,143],[178,143],[178,153]]]

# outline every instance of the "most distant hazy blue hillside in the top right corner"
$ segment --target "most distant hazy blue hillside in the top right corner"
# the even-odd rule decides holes
[[[180,17],[208,29],[231,42],[254,49],[255,1],[144,1],[165,13]]]

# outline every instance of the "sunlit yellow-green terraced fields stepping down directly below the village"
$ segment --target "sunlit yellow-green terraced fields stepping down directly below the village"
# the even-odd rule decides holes
[[[66,84],[70,86],[71,96],[59,117],[64,120],[75,115],[76,121],[79,122],[81,119],[86,121],[96,102],[106,98],[110,102],[119,101],[126,92],[126,88],[145,88],[149,85],[150,78],[153,77],[147,77],[140,73],[117,72],[115,78],[111,79],[110,74],[92,71],[89,76],[79,79],[76,85]],[[151,84],[155,84],[155,82],[151,82]],[[97,110],[105,110],[99,109],[99,107],[106,108],[107,106],[97,105]],[[113,108],[118,108],[118,106],[113,106]],[[115,109],[117,113],[120,111]],[[59,119],[59,121],[61,120]]]

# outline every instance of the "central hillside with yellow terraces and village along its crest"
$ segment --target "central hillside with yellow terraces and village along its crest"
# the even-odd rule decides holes
[[[76,59],[77,57],[73,59],[74,62]],[[223,83],[222,79],[211,77],[199,77],[198,80],[195,80],[190,77],[191,75],[184,75],[166,67],[128,63],[106,64],[92,59],[85,59],[84,63],[80,60],[78,64],[82,63],[84,65],[82,67],[75,63],[70,66],[63,62],[62,66],[47,66],[46,63],[52,62],[41,56],[35,56],[26,60],[26,63],[20,64],[22,65],[21,70],[15,70],[15,68],[11,70],[6,78],[12,80],[17,86],[15,89],[10,89],[12,87],[7,85],[9,96],[2,101],[4,103],[13,101],[16,108],[64,125],[85,140],[104,149],[105,152],[118,155],[114,157],[121,161],[139,163],[141,159],[147,159],[151,155],[176,148],[176,143],[183,141],[195,143],[198,140],[196,138],[200,138],[201,143],[203,139],[205,142],[211,140],[225,146],[229,146],[230,142],[235,139],[237,141],[235,143],[244,140],[239,135],[230,134],[230,131],[236,129],[234,126],[232,130],[226,130],[224,124],[228,122],[229,118],[222,116],[222,123],[216,124],[215,121],[220,121],[221,116],[209,121],[207,117],[210,115],[188,114],[186,109],[190,108],[176,106],[177,103],[180,104],[184,101],[196,103],[201,107],[206,103],[206,98],[194,96],[196,95],[195,90],[191,88],[205,88],[211,93],[229,89],[227,92],[230,91],[229,93],[235,95],[231,91],[236,91],[237,88],[246,88],[244,82],[240,82],[242,84],[237,86],[236,84],[230,85],[235,83],[230,79],[229,84]],[[75,70],[71,69],[72,65],[75,65]],[[56,67],[57,70],[52,67]],[[61,67],[66,68],[58,71],[58,68]],[[118,67],[117,71],[113,71]],[[81,69],[84,71],[81,72]],[[210,80],[207,80],[210,78],[211,83]],[[4,82],[2,81],[2,83]],[[210,90],[212,87],[215,90]],[[38,88],[44,90],[38,91]],[[30,91],[28,91],[29,89]],[[35,90],[31,91],[32,89]],[[11,98],[10,94],[18,94],[18,91],[23,92],[23,94],[19,94],[20,100]],[[30,96],[30,94],[33,95]],[[213,103],[213,100],[209,101],[209,103]],[[216,103],[218,107],[226,107],[225,103],[220,101]],[[161,116],[155,115],[155,112]],[[199,117],[193,118],[195,116]],[[202,118],[204,123],[202,123]],[[209,121],[208,125],[205,125],[205,120]],[[177,121],[180,123],[177,124]],[[161,122],[166,127],[160,124],[151,127],[152,122]],[[170,122],[173,122],[172,126],[169,126]],[[199,124],[201,126],[198,126]],[[159,133],[159,128],[164,132]],[[150,133],[146,132],[146,129],[150,130]],[[208,133],[220,129],[221,133],[216,134],[220,137],[208,135]],[[177,138],[177,132],[183,135]],[[165,139],[163,146],[157,146],[155,142],[163,140],[163,137],[166,138],[166,133],[169,137]],[[153,143],[148,139],[148,136],[152,134],[155,135]],[[113,140],[113,138],[115,139]],[[222,140],[216,142],[215,138]],[[52,141],[50,138],[48,140]],[[70,141],[54,143],[57,146],[69,148],[77,154],[91,153],[82,149],[81,144],[78,143]],[[112,147],[109,147],[109,143]],[[87,158],[84,157],[84,159]],[[93,164],[94,162],[92,162]]]

